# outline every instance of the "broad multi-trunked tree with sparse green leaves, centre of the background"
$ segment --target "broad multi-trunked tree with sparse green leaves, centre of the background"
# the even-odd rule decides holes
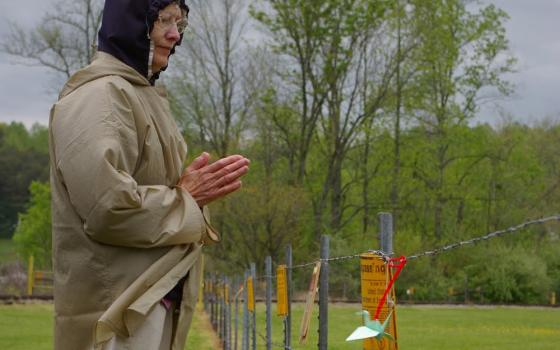
[[[316,236],[324,229],[336,232],[345,223],[343,161],[362,123],[379,108],[393,68],[387,64],[380,69],[380,86],[372,89],[375,93],[367,96],[371,103],[361,110],[361,91],[369,83],[362,67],[373,52],[369,40],[383,21],[385,5],[360,0],[267,4],[268,10],[253,14],[270,30],[282,56],[279,78],[287,99],[281,103],[297,111],[297,118],[272,117],[290,149],[293,183],[305,182],[314,192]],[[311,154],[316,167],[308,162]]]

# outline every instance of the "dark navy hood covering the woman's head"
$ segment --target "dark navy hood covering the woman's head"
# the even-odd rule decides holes
[[[188,14],[185,0],[106,0],[98,36],[98,50],[107,52],[138,71],[154,84],[159,72],[149,76],[150,32],[161,9],[177,2]],[[177,45],[181,44],[181,39]],[[175,52],[171,50],[170,56]],[[163,67],[162,71],[167,67]]]

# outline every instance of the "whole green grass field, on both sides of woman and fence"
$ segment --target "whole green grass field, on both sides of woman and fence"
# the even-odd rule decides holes
[[[329,349],[362,349],[360,342],[344,339],[360,323],[354,313],[357,305],[331,305],[329,308]],[[317,348],[317,313],[311,319],[309,339],[299,345],[297,333],[302,315],[295,305],[293,349]],[[258,331],[265,333],[264,307],[258,305]],[[400,349],[453,350],[558,350],[560,349],[560,309],[521,307],[437,307],[402,306],[398,309]],[[282,342],[282,324],[273,318],[273,341]],[[0,349],[47,350],[52,341],[52,305],[0,306]],[[264,342],[258,338],[258,349]],[[187,349],[217,348],[208,318],[197,314],[190,332]]]

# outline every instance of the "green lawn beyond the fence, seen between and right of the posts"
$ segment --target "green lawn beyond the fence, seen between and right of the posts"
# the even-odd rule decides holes
[[[345,341],[360,325],[357,311],[359,305],[329,307],[329,349],[362,349],[359,341]],[[306,345],[298,343],[302,312],[301,305],[293,308],[292,347],[317,349],[318,307],[311,318]],[[397,319],[399,348],[405,350],[560,349],[558,308],[403,306],[398,308]],[[274,316],[273,321],[273,341],[281,343],[281,320]],[[262,305],[258,306],[257,324],[259,333],[265,334]],[[257,344],[259,349],[264,347],[260,338]]]

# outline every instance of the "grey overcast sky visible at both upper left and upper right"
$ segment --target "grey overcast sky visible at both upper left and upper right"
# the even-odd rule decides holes
[[[0,0],[0,38],[7,33],[7,20],[32,28],[55,2]],[[560,0],[485,3],[493,3],[510,15],[506,29],[511,51],[519,62],[518,73],[509,77],[516,84],[515,95],[497,102],[497,106],[482,108],[477,121],[498,124],[504,115],[525,123],[543,118],[560,121]],[[0,121],[46,125],[56,99],[53,77],[45,68],[13,64],[16,61],[0,53]]]

